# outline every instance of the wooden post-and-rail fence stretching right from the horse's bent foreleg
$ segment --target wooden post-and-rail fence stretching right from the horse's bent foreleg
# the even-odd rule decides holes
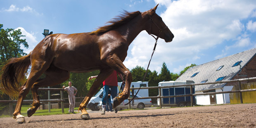
[[[154,97],[137,97],[134,98],[135,100],[137,99],[150,99],[150,98],[159,98],[160,99],[160,108],[162,108],[162,98],[170,98],[170,97],[187,97],[190,96],[190,101],[191,101],[191,106],[193,105],[193,96],[197,95],[211,95],[211,94],[223,94],[223,93],[235,93],[239,92],[240,94],[240,103],[243,103],[242,99],[242,92],[251,92],[251,91],[256,91],[256,89],[246,89],[246,90],[241,90],[241,82],[242,81],[252,81],[256,80],[256,77],[251,77],[251,78],[242,78],[242,79],[236,79],[236,80],[229,80],[229,81],[217,81],[217,82],[209,82],[209,83],[191,83],[191,84],[184,84],[184,85],[169,85],[169,86],[156,86],[156,87],[141,87],[140,89],[159,89],[159,96],[154,96]],[[238,82],[239,85],[239,90],[235,91],[223,91],[223,92],[207,92],[207,93],[198,93],[198,94],[192,94],[192,87],[197,86],[197,85],[209,85],[209,84],[217,84],[217,83],[232,83],[232,82]],[[173,87],[184,87],[184,86],[190,86],[190,94],[185,94],[185,95],[171,95],[171,96],[162,96],[161,95],[161,88],[173,88]],[[137,88],[131,88],[131,89],[139,89]],[[128,98],[128,100],[131,100],[132,98]],[[130,109],[130,108],[129,108]]]

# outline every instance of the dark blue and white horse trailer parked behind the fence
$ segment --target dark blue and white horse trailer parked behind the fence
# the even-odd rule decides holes
[[[159,82],[158,86],[170,86],[170,85],[183,85],[194,83],[194,81],[163,81]],[[192,88],[194,94],[194,86]],[[172,88],[161,88],[162,96],[171,96],[171,95],[185,95],[190,94],[190,86],[183,87],[172,87]],[[195,96],[193,96],[193,104],[195,103]],[[160,99],[157,99],[157,105],[160,105]],[[171,98],[162,98],[162,106],[191,106],[190,97],[171,97]]]

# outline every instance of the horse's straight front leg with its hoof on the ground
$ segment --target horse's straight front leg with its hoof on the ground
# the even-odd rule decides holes
[[[91,119],[88,112],[86,111],[86,107],[88,102],[90,101],[91,97],[95,94],[95,92],[100,88],[100,85],[102,82],[113,72],[113,69],[107,69],[107,70],[101,70],[100,74],[95,79],[94,83],[92,84],[92,87],[90,88],[88,94],[86,95],[85,99],[79,106],[79,110],[82,111],[81,118],[84,120]]]

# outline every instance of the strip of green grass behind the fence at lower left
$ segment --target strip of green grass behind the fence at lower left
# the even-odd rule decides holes
[[[21,107],[21,115],[27,116],[27,110],[30,106],[22,106]],[[78,107],[75,107],[74,110],[78,110]],[[77,113],[77,112],[75,112]],[[64,113],[62,113],[62,109],[51,109],[51,112],[48,112],[48,109],[39,110],[37,109],[33,116],[45,116],[45,115],[60,115],[60,114],[72,114],[69,113],[69,108],[64,108]],[[10,117],[9,115],[2,115],[0,118]]]

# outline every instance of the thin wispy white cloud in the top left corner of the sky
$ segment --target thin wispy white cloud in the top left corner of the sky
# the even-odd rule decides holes
[[[31,12],[31,13],[34,13],[36,15],[43,15],[43,13],[39,14],[38,12],[36,12],[35,9],[29,7],[28,5],[26,7],[23,7],[23,8],[16,7],[16,5],[11,5],[9,7],[9,9],[2,8],[1,12]]]

